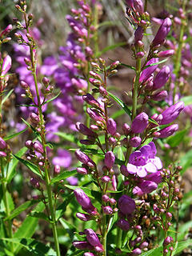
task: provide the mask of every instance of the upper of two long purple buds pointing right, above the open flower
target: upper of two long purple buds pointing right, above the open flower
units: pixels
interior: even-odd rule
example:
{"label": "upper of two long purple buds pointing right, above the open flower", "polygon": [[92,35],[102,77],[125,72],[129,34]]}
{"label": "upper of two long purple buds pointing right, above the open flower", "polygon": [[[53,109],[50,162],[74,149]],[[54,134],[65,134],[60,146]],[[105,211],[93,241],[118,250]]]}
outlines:
{"label": "upper of two long purple buds pointing right, above the open flower", "polygon": [[184,103],[178,102],[173,106],[170,106],[168,109],[162,112],[162,122],[161,125],[166,125],[170,122],[173,122],[174,119],[178,118],[180,112],[184,109]]}

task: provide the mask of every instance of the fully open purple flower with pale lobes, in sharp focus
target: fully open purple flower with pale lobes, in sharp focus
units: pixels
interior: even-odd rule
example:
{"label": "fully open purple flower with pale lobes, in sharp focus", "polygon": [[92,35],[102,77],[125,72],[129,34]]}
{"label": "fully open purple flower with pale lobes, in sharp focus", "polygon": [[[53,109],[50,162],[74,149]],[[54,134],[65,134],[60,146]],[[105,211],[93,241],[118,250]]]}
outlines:
{"label": "fully open purple flower with pale lobes, in sharp focus", "polygon": [[[130,154],[129,163],[123,169],[123,174],[137,174],[138,177],[146,177],[147,173],[156,173],[162,169],[160,158],[155,157],[157,154],[154,142],[142,146],[140,150]],[[122,171],[122,170],[121,170]]]}

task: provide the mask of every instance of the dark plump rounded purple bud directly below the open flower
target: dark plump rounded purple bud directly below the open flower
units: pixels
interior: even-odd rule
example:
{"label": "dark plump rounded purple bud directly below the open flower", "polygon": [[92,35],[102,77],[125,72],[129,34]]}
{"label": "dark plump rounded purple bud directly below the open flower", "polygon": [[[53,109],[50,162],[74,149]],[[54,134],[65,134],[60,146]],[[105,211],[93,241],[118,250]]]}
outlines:
{"label": "dark plump rounded purple bud directly below the open flower", "polygon": [[135,209],[134,199],[123,194],[122,197],[118,199],[118,208],[123,214],[132,214]]}

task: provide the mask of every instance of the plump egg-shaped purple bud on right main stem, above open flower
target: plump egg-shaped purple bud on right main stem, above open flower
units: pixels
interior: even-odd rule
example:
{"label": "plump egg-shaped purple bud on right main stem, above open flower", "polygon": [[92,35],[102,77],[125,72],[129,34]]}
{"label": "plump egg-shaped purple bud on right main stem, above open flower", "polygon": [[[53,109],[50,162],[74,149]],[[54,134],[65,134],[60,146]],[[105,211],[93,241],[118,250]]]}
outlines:
{"label": "plump egg-shaped purple bud on right main stem, above open flower", "polygon": [[146,130],[146,126],[148,125],[148,115],[144,112],[137,115],[134,118],[134,121],[131,125],[131,130],[134,134],[141,134],[144,130]]}

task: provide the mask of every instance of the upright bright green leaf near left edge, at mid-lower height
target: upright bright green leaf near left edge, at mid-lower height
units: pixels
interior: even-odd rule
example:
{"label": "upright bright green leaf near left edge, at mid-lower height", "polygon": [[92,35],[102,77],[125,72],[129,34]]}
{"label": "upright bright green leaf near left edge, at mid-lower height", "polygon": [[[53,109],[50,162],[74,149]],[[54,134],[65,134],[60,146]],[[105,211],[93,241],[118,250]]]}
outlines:
{"label": "upright bright green leaf near left edge, at mid-lower height", "polygon": [[[17,156],[18,157],[22,157],[23,154],[26,153],[26,146],[22,147],[21,150],[19,150],[17,152]],[[11,161],[7,164],[5,170],[7,170],[7,175],[6,175],[6,182],[10,183],[12,178],[14,178],[14,175],[16,174],[15,168],[18,165],[18,159],[17,158],[13,158],[11,159]]]}

